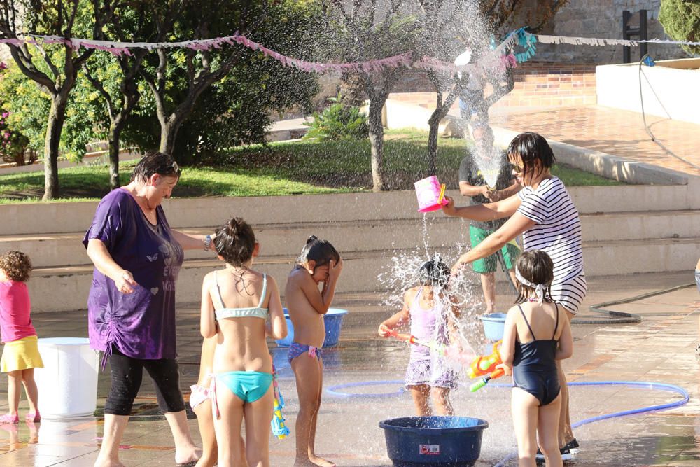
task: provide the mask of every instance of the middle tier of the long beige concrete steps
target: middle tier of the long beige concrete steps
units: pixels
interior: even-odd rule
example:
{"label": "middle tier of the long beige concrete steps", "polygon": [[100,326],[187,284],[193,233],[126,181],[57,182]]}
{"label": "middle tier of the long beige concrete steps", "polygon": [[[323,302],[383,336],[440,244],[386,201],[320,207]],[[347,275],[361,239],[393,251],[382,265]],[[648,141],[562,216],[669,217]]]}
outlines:
{"label": "middle tier of the long beige concrete steps", "polygon": [[[700,232],[700,211],[643,211],[582,214],[584,242],[640,239],[685,239]],[[265,256],[295,257],[309,235],[329,239],[342,254],[391,251],[426,246],[442,249],[468,244],[468,222],[440,214],[425,220],[337,221],[253,225]],[[213,227],[183,229],[196,234],[211,233]],[[90,265],[82,244],[83,233],[0,236],[0,251],[24,251],[34,267]],[[188,258],[211,259],[211,253],[188,251]],[[640,271],[634,271],[640,272]]]}

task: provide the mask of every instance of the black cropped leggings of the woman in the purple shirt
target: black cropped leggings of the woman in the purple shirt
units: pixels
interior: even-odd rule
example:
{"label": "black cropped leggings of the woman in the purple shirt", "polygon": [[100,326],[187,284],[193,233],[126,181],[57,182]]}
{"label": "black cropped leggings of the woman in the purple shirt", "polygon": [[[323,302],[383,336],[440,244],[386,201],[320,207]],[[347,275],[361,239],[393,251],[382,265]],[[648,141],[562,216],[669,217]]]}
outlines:
{"label": "black cropped leggings of the woman in the purple shirt", "polygon": [[139,360],[125,356],[117,349],[109,356],[112,386],[104,404],[104,413],[130,415],[134,399],[139,393],[144,368],[155,383],[155,396],[158,407],[165,412],[185,410],[185,401],[180,391],[180,372],[175,358],[160,360]]}

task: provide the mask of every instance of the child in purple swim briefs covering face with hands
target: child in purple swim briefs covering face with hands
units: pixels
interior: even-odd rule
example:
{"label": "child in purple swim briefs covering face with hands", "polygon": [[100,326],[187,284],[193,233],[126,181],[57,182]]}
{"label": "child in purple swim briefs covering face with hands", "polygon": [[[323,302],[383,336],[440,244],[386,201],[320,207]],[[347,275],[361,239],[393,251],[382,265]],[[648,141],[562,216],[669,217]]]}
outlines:
{"label": "child in purple swim briefs covering face with hands", "polygon": [[[311,235],[287,277],[285,301],[294,326],[294,342],[288,360],[294,371],[299,395],[294,465],[333,467],[314,452],[316,419],[323,391],[321,347],[325,340],[323,315],[328,313],[343,260],[326,240]],[[323,288],[318,290],[318,284]]]}

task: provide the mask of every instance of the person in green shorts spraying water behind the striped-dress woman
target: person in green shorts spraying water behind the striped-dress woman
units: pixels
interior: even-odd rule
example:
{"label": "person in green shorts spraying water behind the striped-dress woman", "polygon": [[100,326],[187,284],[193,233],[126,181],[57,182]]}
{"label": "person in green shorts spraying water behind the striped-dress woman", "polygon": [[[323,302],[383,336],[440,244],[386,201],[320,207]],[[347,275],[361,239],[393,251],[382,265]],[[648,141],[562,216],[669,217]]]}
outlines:
{"label": "person in green shorts spraying water behind the striped-dress woman", "polygon": [[[503,200],[517,193],[522,187],[514,180],[505,152],[493,147],[491,128],[488,125],[476,126],[472,131],[472,136],[474,137],[472,153],[466,155],[459,165],[460,193],[463,196],[471,197],[470,204],[484,204]],[[500,159],[498,164],[493,161],[493,158]],[[488,165],[499,167],[495,190],[489,189],[489,186],[486,185],[486,180],[475,160],[485,161]],[[498,230],[505,221],[507,221],[507,218],[497,219],[496,221],[471,221],[469,237],[472,248]],[[514,267],[519,254],[520,249],[517,244],[510,242],[505,244],[500,251],[493,253],[493,255],[472,263],[475,272],[478,272],[481,276],[486,313],[492,313],[496,303],[496,264],[498,263],[498,255],[503,258],[501,268],[507,271],[512,283],[517,284]]]}

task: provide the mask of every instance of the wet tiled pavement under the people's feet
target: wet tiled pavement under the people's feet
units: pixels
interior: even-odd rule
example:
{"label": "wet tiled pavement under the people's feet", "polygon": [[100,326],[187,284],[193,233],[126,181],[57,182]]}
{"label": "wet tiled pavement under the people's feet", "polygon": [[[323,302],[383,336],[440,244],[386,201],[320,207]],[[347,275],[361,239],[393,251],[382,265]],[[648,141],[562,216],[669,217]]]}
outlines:
{"label": "wet tiled pavement under the people's feet", "polygon": [[[584,307],[599,302],[631,298],[692,282],[692,273],[637,274],[635,276],[590,279]],[[500,291],[499,308],[507,309],[510,296]],[[381,398],[338,397],[324,393],[318,417],[316,452],[339,466],[389,466],[384,433],[378,427],[383,419],[413,414],[409,394],[400,393],[408,360],[404,344],[376,337],[379,322],[394,312],[381,305],[378,294],[337,296],[334,306],[349,309],[339,346],[323,351],[324,386],[361,382],[386,382],[337,389],[354,395],[394,394]],[[613,305],[620,312],[640,314],[643,321],[633,324],[575,324],[575,354],[564,363],[570,382],[631,381],[673,384],[685,389],[687,405],[661,412],[646,412],[584,424],[575,430],[581,452],[573,466],[700,466],[700,417],[698,393],[699,363],[694,346],[698,337],[700,296],[693,287],[655,295],[642,300]],[[597,319],[591,312],[582,318]],[[469,318],[467,318],[469,319]],[[84,311],[36,314],[33,317],[40,337],[85,337]],[[472,342],[482,339],[476,320]],[[179,307],[179,359],[183,373],[181,387],[188,388],[197,378],[201,338],[196,304]],[[294,423],[298,410],[293,374],[286,363],[286,349],[271,351],[279,370],[279,384],[287,406],[284,414],[292,435],[270,443],[272,466],[291,466],[294,449]],[[109,373],[100,373],[97,414],[102,412],[109,389]],[[500,382],[507,382],[502,379]],[[453,393],[456,414],[489,421],[484,431],[482,452],[477,466],[514,466],[504,461],[514,453],[515,439],[510,419],[510,391],[487,386],[478,393],[461,388]],[[7,379],[0,382],[0,410],[6,410]],[[40,388],[41,391],[45,388]],[[664,405],[681,400],[678,393],[661,386],[573,386],[571,416],[581,421],[603,414]],[[23,400],[20,414],[26,412]],[[127,466],[172,465],[174,447],[167,422],[155,402],[153,385],[144,385],[134,407],[120,459]],[[199,440],[195,419],[189,420]],[[41,424],[0,426],[0,466],[90,466],[99,449],[102,419],[43,421]],[[503,461],[503,462],[502,462]]]}

